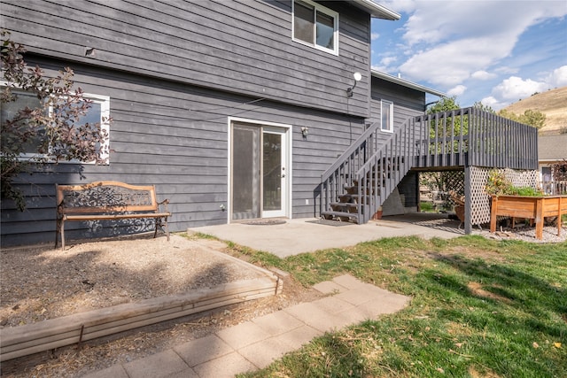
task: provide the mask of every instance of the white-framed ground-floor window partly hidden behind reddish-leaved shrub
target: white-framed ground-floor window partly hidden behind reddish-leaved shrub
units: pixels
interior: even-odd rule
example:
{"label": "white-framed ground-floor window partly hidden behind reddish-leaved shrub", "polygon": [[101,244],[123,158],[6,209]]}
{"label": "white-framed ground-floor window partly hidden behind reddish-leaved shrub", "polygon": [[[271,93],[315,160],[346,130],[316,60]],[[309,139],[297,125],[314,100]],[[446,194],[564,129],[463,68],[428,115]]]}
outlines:
{"label": "white-framed ground-floor window partly hidden behind reddish-leaved shrub", "polygon": [[[0,83],[6,85],[4,82]],[[24,90],[19,89],[12,89],[12,93],[18,96],[16,101],[12,101],[9,103],[2,104],[2,112],[1,112],[1,120],[4,123],[5,120],[12,120],[16,113],[20,109],[25,109],[26,107],[30,109],[37,109],[42,106],[40,100],[35,96],[33,93],[26,92]],[[95,124],[98,123],[100,127],[102,127],[106,131],[106,140],[104,141],[105,149],[108,150],[109,144],[109,123],[108,119],[110,118],[110,97],[108,96],[97,96],[97,95],[89,95],[83,94],[84,98],[89,99],[91,102],[89,110],[87,114],[82,116],[81,124],[89,123]],[[49,109],[49,112],[53,112],[53,109]],[[39,133],[41,134],[43,130],[40,130]],[[38,148],[38,141],[30,140],[24,145],[24,153],[21,155],[21,158],[33,158],[37,156],[37,148]],[[108,164],[108,153],[105,153],[101,158],[105,160],[106,164]],[[94,162],[83,162],[83,163],[94,163]]]}

